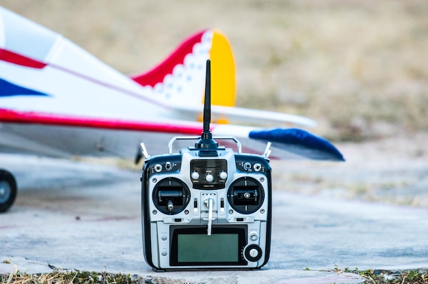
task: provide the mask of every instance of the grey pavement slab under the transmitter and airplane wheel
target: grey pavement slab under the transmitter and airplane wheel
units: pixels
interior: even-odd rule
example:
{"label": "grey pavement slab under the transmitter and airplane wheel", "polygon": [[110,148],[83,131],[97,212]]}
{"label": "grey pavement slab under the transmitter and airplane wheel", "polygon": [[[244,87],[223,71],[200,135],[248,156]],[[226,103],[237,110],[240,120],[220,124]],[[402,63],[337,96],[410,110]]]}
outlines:
{"label": "grey pavement slab under the transmitter and airplane wheel", "polygon": [[271,257],[262,270],[157,273],[142,253],[138,171],[34,156],[1,154],[0,161],[20,187],[14,207],[0,214],[1,273],[62,268],[154,283],[360,283],[331,270],[428,268],[427,209],[274,190]]}

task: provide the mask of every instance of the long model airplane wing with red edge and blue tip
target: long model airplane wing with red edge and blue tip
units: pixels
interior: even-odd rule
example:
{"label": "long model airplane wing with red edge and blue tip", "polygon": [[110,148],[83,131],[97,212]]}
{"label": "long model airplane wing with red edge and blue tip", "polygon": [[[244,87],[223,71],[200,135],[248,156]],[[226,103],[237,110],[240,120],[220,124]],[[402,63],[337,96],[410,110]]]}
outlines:
{"label": "long model airplane wing with red edge and blue tip", "polygon": [[[4,113],[3,113],[4,114]],[[53,117],[8,111],[3,116],[0,137],[3,152],[25,152],[46,156],[118,156],[133,157],[139,143],[147,145],[150,154],[168,152],[168,142],[178,134],[200,135],[200,122],[130,122],[81,117]],[[243,152],[263,154],[272,143],[274,159],[344,160],[329,141],[297,128],[260,128],[231,124],[211,124],[214,137],[235,137]],[[187,147],[191,144],[180,145]],[[235,147],[230,141],[219,145]]]}

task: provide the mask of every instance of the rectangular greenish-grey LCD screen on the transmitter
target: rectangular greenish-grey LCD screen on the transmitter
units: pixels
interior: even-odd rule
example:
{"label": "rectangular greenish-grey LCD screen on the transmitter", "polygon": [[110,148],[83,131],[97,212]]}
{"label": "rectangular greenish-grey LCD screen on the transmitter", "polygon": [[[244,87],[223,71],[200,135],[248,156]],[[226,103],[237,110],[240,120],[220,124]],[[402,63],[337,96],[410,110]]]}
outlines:
{"label": "rectangular greenish-grey LCD screen on the transmitter", "polygon": [[237,262],[239,234],[178,234],[178,262]]}

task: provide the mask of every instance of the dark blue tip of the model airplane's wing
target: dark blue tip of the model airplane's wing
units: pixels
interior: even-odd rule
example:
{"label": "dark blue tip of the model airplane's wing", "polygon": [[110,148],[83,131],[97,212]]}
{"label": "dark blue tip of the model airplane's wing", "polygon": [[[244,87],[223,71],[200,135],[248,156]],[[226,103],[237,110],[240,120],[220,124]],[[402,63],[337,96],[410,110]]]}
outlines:
{"label": "dark blue tip of the model airplane's wing", "polygon": [[302,129],[253,130],[249,137],[270,141],[276,147],[313,160],[345,160],[343,155],[327,139],[317,137]]}

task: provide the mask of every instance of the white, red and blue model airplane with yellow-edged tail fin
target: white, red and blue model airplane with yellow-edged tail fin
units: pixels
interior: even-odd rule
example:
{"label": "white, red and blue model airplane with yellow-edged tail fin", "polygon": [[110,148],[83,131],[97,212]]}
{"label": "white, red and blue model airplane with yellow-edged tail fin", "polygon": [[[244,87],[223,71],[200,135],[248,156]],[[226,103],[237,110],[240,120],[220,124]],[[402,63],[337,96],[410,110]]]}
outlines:
{"label": "white, red and blue model airplane with yellow-edged tail fin", "polygon": [[[343,160],[327,140],[282,128],[315,126],[312,119],[235,107],[235,63],[228,40],[217,30],[192,35],[152,70],[126,76],[62,35],[2,7],[0,151],[139,158],[144,141],[150,154],[165,153],[177,134],[202,131],[207,59],[212,62],[214,137],[236,137],[244,152],[257,154],[271,142],[271,158]],[[0,212],[10,208],[16,191],[12,173],[0,169]]]}

